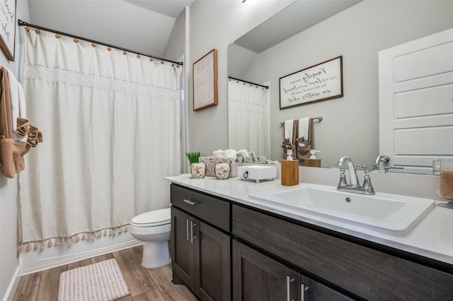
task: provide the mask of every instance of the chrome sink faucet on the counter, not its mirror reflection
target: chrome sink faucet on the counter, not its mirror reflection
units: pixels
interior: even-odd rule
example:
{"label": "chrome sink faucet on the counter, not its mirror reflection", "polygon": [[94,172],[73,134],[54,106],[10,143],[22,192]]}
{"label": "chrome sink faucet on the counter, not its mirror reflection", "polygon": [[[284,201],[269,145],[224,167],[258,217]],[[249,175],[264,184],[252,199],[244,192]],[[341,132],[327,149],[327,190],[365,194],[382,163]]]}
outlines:
{"label": "chrome sink faucet on the counter, not its mirror reflection", "polygon": [[[349,182],[346,181],[345,175],[345,165],[348,165],[349,168]],[[338,183],[337,189],[340,191],[350,191],[357,194],[376,194],[374,192],[373,185],[371,184],[371,178],[369,173],[371,171],[365,170],[365,179],[363,180],[363,185],[360,186],[359,179],[357,178],[357,171],[355,170],[355,165],[352,163],[352,159],[348,156],[343,156],[338,160],[337,167],[340,168],[340,182]]]}

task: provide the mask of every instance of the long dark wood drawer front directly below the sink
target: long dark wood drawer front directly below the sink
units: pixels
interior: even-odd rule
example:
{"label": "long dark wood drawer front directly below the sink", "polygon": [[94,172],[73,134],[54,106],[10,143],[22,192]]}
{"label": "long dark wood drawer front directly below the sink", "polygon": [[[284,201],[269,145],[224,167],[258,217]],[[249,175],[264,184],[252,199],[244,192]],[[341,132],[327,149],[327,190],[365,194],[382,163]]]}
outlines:
{"label": "long dark wood drawer front directly below the sink", "polygon": [[367,300],[451,300],[453,275],[233,205],[232,233]]}

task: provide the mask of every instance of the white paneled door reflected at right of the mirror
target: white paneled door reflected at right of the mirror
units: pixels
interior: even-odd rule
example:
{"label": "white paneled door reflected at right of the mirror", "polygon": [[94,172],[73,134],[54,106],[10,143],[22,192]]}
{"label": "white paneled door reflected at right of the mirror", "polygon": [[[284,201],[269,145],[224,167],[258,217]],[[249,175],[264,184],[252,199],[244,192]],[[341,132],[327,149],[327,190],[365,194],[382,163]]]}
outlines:
{"label": "white paneled door reflected at right of the mirror", "polygon": [[379,153],[404,172],[453,159],[453,29],[379,52]]}

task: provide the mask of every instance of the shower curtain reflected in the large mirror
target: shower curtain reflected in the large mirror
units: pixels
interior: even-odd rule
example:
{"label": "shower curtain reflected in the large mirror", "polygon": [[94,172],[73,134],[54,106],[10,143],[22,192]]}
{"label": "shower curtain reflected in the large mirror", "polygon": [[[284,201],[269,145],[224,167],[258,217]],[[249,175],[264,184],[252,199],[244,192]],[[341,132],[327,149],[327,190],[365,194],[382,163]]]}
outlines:
{"label": "shower curtain reflected in the large mirror", "polygon": [[269,90],[241,81],[228,81],[228,147],[255,151],[270,158]]}

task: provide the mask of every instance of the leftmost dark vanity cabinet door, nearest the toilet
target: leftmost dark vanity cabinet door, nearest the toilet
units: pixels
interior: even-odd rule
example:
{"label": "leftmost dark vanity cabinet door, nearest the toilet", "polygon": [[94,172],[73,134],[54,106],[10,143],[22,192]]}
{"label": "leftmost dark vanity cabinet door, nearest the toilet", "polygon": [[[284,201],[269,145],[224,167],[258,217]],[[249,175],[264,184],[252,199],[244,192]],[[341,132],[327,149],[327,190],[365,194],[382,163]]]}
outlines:
{"label": "leftmost dark vanity cabinet door, nearest the toilet", "polygon": [[193,289],[195,283],[193,262],[193,218],[171,207],[171,262],[173,282],[185,283]]}

